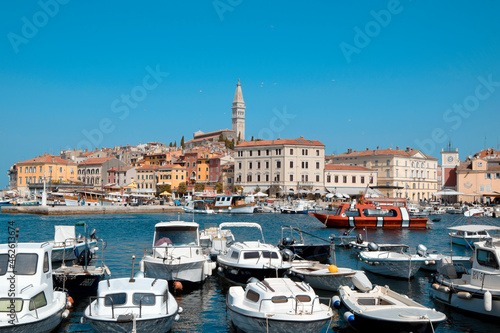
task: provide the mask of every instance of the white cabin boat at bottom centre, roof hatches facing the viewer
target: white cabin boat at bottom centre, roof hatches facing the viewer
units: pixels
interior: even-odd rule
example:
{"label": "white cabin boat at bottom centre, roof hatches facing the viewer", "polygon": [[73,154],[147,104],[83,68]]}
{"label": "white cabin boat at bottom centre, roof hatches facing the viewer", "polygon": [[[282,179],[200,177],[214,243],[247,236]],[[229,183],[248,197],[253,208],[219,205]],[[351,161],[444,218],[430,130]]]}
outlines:
{"label": "white cabin boat at bottom centre, roof hatches facing the viewer", "polygon": [[266,278],[229,288],[231,321],[246,333],[321,332],[333,317],[313,288],[288,278]]}

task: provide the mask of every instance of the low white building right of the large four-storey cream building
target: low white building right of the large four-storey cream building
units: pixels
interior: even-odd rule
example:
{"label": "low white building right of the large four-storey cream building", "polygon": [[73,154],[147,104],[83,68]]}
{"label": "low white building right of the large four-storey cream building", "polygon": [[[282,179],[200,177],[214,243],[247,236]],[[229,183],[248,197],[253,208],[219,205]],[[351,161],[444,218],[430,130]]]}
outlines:
{"label": "low white building right of the large four-storey cream building", "polygon": [[[325,187],[330,193],[349,196],[365,193],[367,186],[376,187],[377,171],[354,165],[325,164]],[[367,195],[382,196],[378,190],[368,188]]]}

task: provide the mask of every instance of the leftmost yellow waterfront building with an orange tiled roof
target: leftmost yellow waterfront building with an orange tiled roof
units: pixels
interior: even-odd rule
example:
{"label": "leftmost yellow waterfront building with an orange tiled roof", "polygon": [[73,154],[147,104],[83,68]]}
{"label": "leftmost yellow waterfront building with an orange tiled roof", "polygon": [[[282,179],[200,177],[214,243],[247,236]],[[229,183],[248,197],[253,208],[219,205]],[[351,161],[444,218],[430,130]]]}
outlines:
{"label": "leftmost yellow waterfront building with an orange tiled roof", "polygon": [[28,193],[30,184],[68,182],[77,180],[76,163],[58,156],[47,155],[17,163],[17,189],[21,195]]}

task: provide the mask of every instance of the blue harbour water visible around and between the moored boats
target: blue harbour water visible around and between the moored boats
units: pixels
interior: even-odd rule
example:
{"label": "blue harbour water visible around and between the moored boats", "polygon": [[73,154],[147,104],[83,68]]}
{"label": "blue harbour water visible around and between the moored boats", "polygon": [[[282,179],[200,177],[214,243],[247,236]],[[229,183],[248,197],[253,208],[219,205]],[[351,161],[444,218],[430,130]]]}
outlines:
{"label": "blue harbour water visible around and between the moored boats", "polygon": [[[435,222],[430,230],[357,230],[365,239],[378,243],[404,243],[415,249],[424,244],[429,250],[450,253],[450,242],[446,227],[467,224],[469,221],[459,215],[441,215],[440,222]],[[107,241],[105,250],[106,264],[111,270],[112,278],[128,277],[131,273],[132,255],[136,256],[136,266],[151,247],[154,225],[160,221],[173,220],[193,221],[188,214],[141,214],[141,215],[80,215],[80,216],[36,216],[0,214],[0,239],[7,241],[9,221],[15,221],[20,228],[21,242],[44,242],[54,238],[54,225],[74,225],[85,221],[90,228],[97,229],[97,236]],[[308,215],[287,214],[254,214],[254,215],[213,215],[194,216],[200,229],[206,223],[221,222],[257,222],[262,226],[267,243],[277,244],[281,238],[282,226],[294,226],[316,236],[327,239],[332,233],[340,234],[343,229],[327,229],[314,217]],[[499,219],[488,217],[473,218],[474,224],[500,225]],[[83,227],[76,227],[77,233],[83,234]],[[255,231],[233,229],[237,240],[253,240],[259,235]],[[306,239],[307,240],[307,239]],[[312,241],[312,240],[311,240]],[[454,254],[471,255],[472,252],[458,246],[453,247]],[[339,267],[359,268],[359,263],[351,250],[337,248],[336,261]],[[448,320],[442,323],[436,332],[498,332],[500,322],[478,319],[474,314],[460,313],[453,309],[434,303],[429,296],[432,276],[419,272],[410,282],[396,280],[367,273],[374,284],[388,285],[391,289],[407,294],[418,302],[443,311]],[[225,286],[216,276],[205,281],[199,288],[175,295],[180,306],[184,308],[181,319],[173,326],[172,332],[236,332],[231,325],[225,304]],[[321,296],[332,296],[332,293],[321,292]],[[58,332],[92,332],[90,325],[80,324],[80,318],[88,300],[78,300],[70,316],[61,325]],[[342,319],[337,318],[330,327],[333,332],[350,332]]]}

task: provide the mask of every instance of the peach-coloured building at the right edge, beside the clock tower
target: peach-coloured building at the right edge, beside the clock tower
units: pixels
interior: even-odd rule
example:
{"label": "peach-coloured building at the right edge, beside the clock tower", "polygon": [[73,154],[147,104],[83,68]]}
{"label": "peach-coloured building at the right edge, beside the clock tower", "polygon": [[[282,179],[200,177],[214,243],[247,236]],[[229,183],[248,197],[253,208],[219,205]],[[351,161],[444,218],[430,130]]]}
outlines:
{"label": "peach-coloured building at the right edge, beside the clock tower", "polygon": [[483,203],[500,197],[500,158],[474,158],[456,168],[458,200]]}

